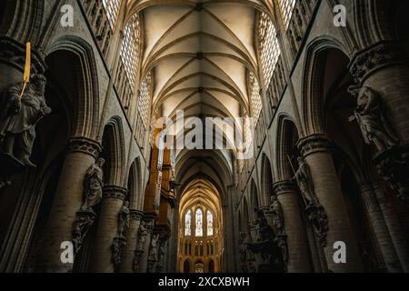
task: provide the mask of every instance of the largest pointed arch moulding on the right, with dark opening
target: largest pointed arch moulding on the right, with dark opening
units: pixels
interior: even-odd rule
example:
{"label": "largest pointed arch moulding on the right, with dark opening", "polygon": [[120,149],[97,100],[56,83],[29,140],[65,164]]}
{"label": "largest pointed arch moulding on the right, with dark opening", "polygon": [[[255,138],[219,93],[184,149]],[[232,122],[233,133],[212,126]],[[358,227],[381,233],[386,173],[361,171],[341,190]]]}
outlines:
{"label": "largest pointed arch moulding on the right, with dark opening", "polygon": [[[336,68],[340,64],[337,64],[336,58],[329,54],[338,52],[342,55],[347,55],[348,50],[334,38],[323,36],[314,39],[314,41],[308,45],[306,51],[301,112],[302,121],[305,126],[305,135],[308,136],[323,134],[325,129],[322,117],[324,112],[322,104],[325,95],[323,95],[324,72],[329,68],[326,60],[328,58],[333,59],[334,64],[331,64],[331,67]],[[344,64],[341,66],[344,66]]]}

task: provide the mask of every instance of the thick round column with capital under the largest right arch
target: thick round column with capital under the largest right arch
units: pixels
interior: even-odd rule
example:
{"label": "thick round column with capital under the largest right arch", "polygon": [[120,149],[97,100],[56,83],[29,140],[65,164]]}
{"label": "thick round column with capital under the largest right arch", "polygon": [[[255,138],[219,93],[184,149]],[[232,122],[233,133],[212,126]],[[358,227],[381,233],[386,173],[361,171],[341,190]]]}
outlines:
{"label": "thick round column with capital under the largest right arch", "polygon": [[[297,146],[310,167],[314,194],[327,216],[324,254],[328,269],[333,272],[362,272],[362,261],[346,212],[329,138],[326,135],[310,135],[301,139]],[[334,243],[338,241],[346,245],[345,264],[334,262]]]}

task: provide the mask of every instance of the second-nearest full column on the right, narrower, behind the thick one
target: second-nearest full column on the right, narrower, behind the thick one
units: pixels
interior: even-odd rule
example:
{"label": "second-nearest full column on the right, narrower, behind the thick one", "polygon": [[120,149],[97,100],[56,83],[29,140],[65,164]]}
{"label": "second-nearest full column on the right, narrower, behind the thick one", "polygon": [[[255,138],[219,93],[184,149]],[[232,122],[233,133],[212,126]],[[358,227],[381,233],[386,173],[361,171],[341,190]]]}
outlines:
{"label": "second-nearest full column on the right, narrower, behind the thick one", "polygon": [[274,184],[274,193],[278,198],[284,214],[284,228],[287,236],[287,269],[289,273],[311,272],[308,254],[307,237],[297,193],[291,181],[281,181]]}

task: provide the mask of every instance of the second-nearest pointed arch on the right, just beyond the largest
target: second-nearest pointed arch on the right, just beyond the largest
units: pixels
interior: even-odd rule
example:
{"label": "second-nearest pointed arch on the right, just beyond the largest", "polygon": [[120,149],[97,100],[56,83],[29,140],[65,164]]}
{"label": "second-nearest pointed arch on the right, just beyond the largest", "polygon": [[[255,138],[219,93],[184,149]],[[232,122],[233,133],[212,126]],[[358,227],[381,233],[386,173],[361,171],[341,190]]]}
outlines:
{"label": "second-nearest pointed arch on the right, just beyond the largest", "polygon": [[293,118],[288,115],[280,115],[278,119],[277,133],[277,177],[279,181],[289,180],[294,176],[294,165],[290,161],[294,161],[293,157],[298,152],[296,143],[299,139],[298,130]]}

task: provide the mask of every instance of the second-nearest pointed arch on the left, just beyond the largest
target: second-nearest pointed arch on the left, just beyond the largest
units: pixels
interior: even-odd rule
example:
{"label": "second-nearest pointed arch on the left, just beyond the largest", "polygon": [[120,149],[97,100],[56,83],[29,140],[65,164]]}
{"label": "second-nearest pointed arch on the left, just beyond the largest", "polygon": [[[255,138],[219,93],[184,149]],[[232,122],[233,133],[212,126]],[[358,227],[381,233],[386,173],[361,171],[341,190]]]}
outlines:
{"label": "second-nearest pointed arch on the left, just beyond the largest", "polygon": [[122,119],[112,117],[105,125],[103,153],[105,158],[105,185],[125,185],[125,137]]}

